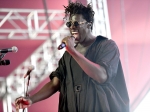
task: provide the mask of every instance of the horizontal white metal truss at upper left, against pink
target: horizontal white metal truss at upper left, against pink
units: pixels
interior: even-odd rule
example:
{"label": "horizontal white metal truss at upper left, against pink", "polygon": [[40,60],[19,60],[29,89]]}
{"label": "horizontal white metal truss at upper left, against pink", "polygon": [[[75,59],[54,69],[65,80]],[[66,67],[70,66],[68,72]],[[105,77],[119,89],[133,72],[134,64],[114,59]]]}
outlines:
{"label": "horizontal white metal truss at upper left, against pink", "polygon": [[[47,28],[45,13],[48,13],[51,30]],[[49,33],[58,31],[63,17],[63,10],[0,9],[0,39],[47,39]]]}

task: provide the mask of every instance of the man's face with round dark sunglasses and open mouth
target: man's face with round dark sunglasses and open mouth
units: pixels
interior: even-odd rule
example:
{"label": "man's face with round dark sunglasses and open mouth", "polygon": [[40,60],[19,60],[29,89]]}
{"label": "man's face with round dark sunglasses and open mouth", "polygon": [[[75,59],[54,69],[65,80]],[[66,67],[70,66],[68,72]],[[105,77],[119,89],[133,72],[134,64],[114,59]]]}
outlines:
{"label": "man's face with round dark sunglasses and open mouth", "polygon": [[83,43],[89,32],[87,21],[80,14],[72,15],[69,19],[68,27],[72,36],[75,37],[75,43]]}

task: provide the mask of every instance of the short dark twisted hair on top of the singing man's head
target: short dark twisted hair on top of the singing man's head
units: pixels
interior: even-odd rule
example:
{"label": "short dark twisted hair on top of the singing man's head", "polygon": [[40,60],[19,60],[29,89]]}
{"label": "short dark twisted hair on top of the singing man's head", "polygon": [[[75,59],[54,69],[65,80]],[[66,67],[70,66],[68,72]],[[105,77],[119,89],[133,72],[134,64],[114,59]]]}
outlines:
{"label": "short dark twisted hair on top of the singing man's head", "polygon": [[69,16],[74,15],[74,14],[81,14],[83,16],[83,18],[87,22],[90,22],[93,26],[95,12],[93,11],[90,3],[87,6],[84,6],[80,2],[75,2],[75,3],[69,2],[69,5],[64,6],[64,8],[65,8],[66,16],[68,14],[69,14]]}

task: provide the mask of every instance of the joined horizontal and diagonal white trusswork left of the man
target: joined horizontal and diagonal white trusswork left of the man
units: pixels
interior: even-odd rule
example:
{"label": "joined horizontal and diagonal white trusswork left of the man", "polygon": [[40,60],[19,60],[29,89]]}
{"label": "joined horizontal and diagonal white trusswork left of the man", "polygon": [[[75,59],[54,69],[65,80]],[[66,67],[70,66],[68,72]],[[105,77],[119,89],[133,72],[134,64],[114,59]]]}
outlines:
{"label": "joined horizontal and diagonal white trusswork left of the man", "polygon": [[[64,52],[56,48],[62,38],[69,34],[63,21],[64,12],[61,10],[47,12],[48,21],[44,10],[0,9],[0,39],[45,39],[45,42],[6,79],[1,78],[0,98],[3,99],[4,112],[15,112],[15,98],[25,95],[27,79],[24,79],[24,75],[28,67],[31,65],[35,67],[31,73],[32,83],[28,89],[31,91],[56,69],[57,61]],[[48,22],[52,26],[51,30],[48,29]],[[10,29],[11,25],[13,27]]]}

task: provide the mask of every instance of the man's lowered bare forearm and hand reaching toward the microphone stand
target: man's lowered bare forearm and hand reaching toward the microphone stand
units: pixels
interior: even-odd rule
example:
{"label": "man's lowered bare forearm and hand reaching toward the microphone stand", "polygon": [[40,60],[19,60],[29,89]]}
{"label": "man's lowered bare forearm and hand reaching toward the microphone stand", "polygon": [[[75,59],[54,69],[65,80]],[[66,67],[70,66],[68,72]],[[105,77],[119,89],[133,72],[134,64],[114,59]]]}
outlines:
{"label": "man's lowered bare forearm and hand reaching toward the microphone stand", "polygon": [[54,77],[50,82],[45,84],[36,94],[34,94],[31,97],[19,97],[15,100],[16,110],[17,112],[19,109],[27,108],[31,104],[36,103],[38,101],[44,100],[51,95],[53,95],[55,92],[59,89],[59,79],[57,77]]}

